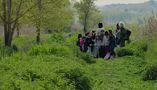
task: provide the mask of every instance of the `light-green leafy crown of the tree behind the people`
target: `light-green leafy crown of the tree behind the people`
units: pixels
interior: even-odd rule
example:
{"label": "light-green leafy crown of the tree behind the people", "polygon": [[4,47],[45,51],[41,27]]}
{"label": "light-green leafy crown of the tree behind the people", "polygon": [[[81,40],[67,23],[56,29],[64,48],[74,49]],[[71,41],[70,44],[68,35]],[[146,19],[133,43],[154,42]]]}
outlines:
{"label": "light-green leafy crown of the tree behind the people", "polygon": [[97,23],[102,21],[101,13],[94,2],[95,0],[80,0],[75,4],[79,21],[84,26],[84,32],[91,31]]}

